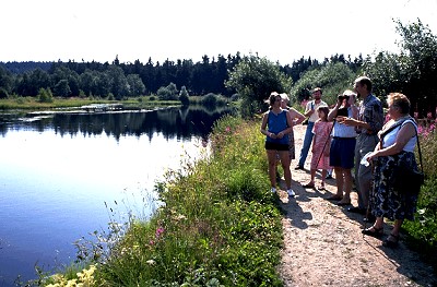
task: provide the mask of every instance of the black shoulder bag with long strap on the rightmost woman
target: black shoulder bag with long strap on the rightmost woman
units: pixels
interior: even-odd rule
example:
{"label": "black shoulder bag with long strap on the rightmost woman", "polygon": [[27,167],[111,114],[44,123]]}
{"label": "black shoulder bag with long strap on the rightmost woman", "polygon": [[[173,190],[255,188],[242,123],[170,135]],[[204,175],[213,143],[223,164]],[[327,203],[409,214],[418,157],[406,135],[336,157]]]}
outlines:
{"label": "black shoulder bag with long strap on the rightmost woman", "polygon": [[[399,124],[395,124],[395,127],[390,128],[386,133],[401,125],[403,121],[400,122]],[[393,190],[405,195],[417,195],[418,192],[421,191],[421,187],[425,182],[425,174],[423,172],[421,143],[418,141],[418,134],[416,129],[415,132],[417,137],[417,150],[421,163],[421,170],[416,170],[413,169],[411,166],[398,163],[398,165],[393,168],[393,172],[391,175],[391,180],[390,180]],[[381,141],[382,137],[383,136],[381,136]]]}

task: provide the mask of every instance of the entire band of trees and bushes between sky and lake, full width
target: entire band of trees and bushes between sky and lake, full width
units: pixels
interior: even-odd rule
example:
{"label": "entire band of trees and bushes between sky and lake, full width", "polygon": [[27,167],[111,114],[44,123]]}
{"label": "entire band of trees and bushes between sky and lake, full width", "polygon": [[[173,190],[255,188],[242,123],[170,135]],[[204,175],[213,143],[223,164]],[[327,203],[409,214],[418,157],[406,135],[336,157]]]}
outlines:
{"label": "entire band of trees and bushes between sky and lake, full width", "polygon": [[[233,98],[237,95],[243,113],[250,116],[265,108],[263,99],[271,91],[290,93],[292,104],[310,96],[310,88],[323,88],[327,103],[352,88],[354,79],[371,79],[373,93],[380,99],[391,92],[404,93],[412,110],[418,117],[437,112],[437,37],[428,26],[417,23],[403,25],[397,31],[400,53],[380,51],[351,59],[334,55],[322,62],[311,58],[294,61],[291,65],[273,63],[258,55],[224,57],[212,60],[203,56],[192,60],[166,60],[146,63],[140,60],[120,62],[118,57],[109,63],[99,62],[0,62],[0,98],[9,97],[87,97],[127,99],[138,96],[157,96],[164,100],[181,100],[181,94],[206,96],[210,94]],[[180,91],[180,93],[179,93]]]}

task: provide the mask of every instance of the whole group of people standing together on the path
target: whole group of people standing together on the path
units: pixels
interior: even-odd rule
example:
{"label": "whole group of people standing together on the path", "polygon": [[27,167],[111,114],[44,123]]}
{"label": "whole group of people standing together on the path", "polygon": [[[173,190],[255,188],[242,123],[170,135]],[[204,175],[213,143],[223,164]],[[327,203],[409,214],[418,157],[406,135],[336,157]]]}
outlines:
{"label": "whole group of people standing together on the path", "polygon": [[[390,120],[385,123],[382,103],[371,94],[371,81],[367,76],[357,77],[353,91],[346,89],[339,95],[331,109],[321,100],[321,88],[312,89],[311,94],[314,99],[307,103],[304,113],[288,107],[286,94],[270,94],[270,109],[263,115],[261,133],[265,135],[271,192],[276,192],[276,166],[281,163],[287,194],[295,196],[291,172],[291,162],[295,159],[293,125],[307,119],[295,167],[304,169],[312,146],[310,181],[303,187],[316,189],[316,172],[321,169],[317,189],[323,190],[327,174],[333,169],[336,192],[328,200],[336,201],[338,205],[352,205],[351,192],[355,182],[357,205],[347,211],[365,215],[364,220],[373,223],[362,232],[380,237],[383,218],[390,218],[394,226],[383,244],[397,246],[400,227],[404,219],[413,219],[417,202],[417,194],[405,195],[388,184],[394,164],[406,164],[417,169],[414,157],[417,124],[409,116],[410,100],[400,93],[389,94]],[[356,105],[358,99],[359,106]]]}

